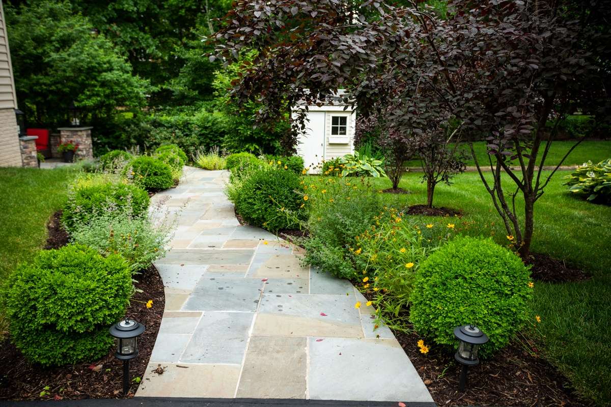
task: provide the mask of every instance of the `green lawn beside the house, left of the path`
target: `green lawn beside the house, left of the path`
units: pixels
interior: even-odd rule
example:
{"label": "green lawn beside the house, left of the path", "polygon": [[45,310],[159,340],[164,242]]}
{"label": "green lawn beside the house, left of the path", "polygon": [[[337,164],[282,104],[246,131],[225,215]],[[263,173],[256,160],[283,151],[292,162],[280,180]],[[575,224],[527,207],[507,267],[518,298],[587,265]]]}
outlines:
{"label": "green lawn beside the house, left of the path", "polygon": [[[67,200],[75,170],[0,168],[0,281],[46,241],[46,222]],[[4,325],[0,310],[0,337]]]}

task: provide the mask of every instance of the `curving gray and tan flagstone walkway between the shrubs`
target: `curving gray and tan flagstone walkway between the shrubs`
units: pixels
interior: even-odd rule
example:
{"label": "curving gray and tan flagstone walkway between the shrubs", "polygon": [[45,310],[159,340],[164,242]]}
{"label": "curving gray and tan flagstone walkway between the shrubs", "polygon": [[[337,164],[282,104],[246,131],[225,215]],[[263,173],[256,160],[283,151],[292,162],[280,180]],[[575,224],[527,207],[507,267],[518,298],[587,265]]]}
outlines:
{"label": "curving gray and tan flagstone walkway between the shrubs", "polygon": [[[166,309],[137,396],[433,400],[393,334],[345,280],[299,264],[299,248],[240,226],[226,171],[186,167],[155,195],[183,207],[156,262]],[[154,373],[159,365],[164,373]]]}

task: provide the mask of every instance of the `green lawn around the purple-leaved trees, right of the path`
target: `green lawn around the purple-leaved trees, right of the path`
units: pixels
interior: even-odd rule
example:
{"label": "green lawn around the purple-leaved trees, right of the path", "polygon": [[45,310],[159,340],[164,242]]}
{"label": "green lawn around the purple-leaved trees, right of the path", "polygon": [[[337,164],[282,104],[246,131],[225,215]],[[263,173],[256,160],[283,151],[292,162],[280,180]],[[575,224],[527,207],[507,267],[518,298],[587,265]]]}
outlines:
{"label": "green lawn around the purple-leaved trees, right of the path", "polygon": [[[550,171],[546,171],[549,173]],[[544,355],[573,382],[584,397],[598,405],[611,403],[611,207],[591,204],[566,192],[559,171],[535,206],[532,250],[571,262],[591,273],[583,283],[535,284],[534,315],[541,316],[540,337]],[[384,194],[388,204],[409,206],[426,203],[422,174],[409,173],[400,187],[407,195]],[[374,179],[379,189],[389,179]],[[511,185],[511,184],[508,184]],[[453,185],[440,184],[435,206],[461,209],[464,221],[475,221],[470,234],[489,236],[499,243],[506,235],[488,193],[477,173],[456,176]],[[530,329],[530,328],[525,328]]]}

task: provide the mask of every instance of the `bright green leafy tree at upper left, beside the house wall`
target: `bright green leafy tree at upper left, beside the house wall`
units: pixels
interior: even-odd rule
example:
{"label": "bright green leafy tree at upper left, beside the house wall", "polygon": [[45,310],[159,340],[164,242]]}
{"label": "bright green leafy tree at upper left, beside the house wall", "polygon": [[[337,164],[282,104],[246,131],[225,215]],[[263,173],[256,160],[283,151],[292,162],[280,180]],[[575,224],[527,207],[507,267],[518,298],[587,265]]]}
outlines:
{"label": "bright green leafy tree at upper left, beside the house wall", "polygon": [[5,13],[17,99],[30,123],[67,124],[72,101],[85,109],[82,121],[94,112],[103,121],[118,106],[144,105],[148,81],[133,75],[108,38],[92,34],[90,21],[70,2],[7,4]]}

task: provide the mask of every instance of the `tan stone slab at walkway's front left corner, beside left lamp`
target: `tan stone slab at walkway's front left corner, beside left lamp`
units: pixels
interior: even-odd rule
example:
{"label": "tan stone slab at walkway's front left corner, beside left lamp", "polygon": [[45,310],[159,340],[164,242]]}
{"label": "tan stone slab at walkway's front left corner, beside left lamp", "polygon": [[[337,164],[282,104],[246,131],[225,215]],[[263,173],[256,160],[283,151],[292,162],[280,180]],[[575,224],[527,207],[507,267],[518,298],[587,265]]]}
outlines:
{"label": "tan stone slab at walkway's front left corner, beside left lamp", "polygon": [[[181,367],[178,367],[181,366]],[[148,364],[136,397],[232,398],[240,377],[240,365],[161,364],[163,375]]]}

